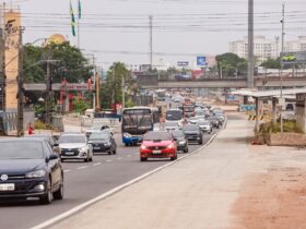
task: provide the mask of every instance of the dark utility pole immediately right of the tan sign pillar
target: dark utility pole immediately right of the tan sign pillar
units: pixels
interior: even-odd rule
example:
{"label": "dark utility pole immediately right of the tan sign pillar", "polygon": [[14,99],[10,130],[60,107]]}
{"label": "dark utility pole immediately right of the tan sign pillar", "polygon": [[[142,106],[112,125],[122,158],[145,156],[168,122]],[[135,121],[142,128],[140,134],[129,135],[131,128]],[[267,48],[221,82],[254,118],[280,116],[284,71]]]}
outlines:
{"label": "dark utility pole immediately right of the tan sign pillar", "polygon": [[17,136],[24,135],[24,88],[23,88],[23,27],[19,28],[19,75],[17,75]]}

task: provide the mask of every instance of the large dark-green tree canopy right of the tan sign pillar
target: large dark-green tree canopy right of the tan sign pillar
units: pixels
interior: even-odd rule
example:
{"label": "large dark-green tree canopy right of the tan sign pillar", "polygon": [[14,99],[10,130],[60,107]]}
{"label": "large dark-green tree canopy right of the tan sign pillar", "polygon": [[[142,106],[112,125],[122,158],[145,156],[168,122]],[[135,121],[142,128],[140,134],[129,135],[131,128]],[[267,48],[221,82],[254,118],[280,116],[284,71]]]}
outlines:
{"label": "large dark-green tree canopy right of the tan sign pillar", "polygon": [[27,83],[43,83],[47,74],[47,60],[50,64],[54,83],[67,80],[69,83],[86,82],[92,75],[93,67],[81,50],[69,43],[50,44],[46,47],[24,46],[24,80]]}

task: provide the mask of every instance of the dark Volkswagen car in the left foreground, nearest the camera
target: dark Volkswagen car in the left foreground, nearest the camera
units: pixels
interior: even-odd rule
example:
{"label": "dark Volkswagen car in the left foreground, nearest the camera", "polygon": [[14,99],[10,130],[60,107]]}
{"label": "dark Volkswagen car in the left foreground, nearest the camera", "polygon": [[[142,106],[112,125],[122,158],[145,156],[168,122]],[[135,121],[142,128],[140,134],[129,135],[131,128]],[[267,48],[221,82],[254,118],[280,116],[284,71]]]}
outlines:
{"label": "dark Volkswagen car in the left foreground, nearest the camera", "polygon": [[62,167],[47,140],[0,140],[0,200],[63,198]]}

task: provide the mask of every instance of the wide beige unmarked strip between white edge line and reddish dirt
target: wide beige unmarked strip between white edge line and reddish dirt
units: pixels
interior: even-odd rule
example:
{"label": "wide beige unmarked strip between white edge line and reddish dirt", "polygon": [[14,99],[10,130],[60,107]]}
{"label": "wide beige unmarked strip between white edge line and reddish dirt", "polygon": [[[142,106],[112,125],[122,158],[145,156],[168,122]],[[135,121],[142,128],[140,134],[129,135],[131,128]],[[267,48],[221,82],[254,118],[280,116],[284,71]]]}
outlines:
{"label": "wide beige unmarked strip between white edge line and reddish dirt", "polygon": [[[55,229],[226,228],[246,172],[254,124],[231,120],[199,154],[101,201]],[[150,161],[149,161],[150,162]],[[67,196],[69,197],[69,196]]]}

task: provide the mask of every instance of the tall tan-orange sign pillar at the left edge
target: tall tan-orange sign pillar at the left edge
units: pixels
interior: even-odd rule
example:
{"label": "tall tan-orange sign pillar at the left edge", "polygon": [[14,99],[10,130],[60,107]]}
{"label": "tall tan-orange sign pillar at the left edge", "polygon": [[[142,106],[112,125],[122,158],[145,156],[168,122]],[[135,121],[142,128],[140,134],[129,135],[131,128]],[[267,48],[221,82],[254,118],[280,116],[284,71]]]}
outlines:
{"label": "tall tan-orange sign pillar at the left edge", "polygon": [[17,109],[17,75],[19,75],[19,47],[20,47],[20,12],[4,12],[5,36],[5,110]]}

